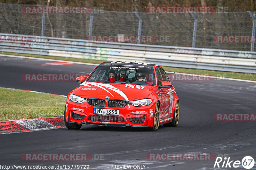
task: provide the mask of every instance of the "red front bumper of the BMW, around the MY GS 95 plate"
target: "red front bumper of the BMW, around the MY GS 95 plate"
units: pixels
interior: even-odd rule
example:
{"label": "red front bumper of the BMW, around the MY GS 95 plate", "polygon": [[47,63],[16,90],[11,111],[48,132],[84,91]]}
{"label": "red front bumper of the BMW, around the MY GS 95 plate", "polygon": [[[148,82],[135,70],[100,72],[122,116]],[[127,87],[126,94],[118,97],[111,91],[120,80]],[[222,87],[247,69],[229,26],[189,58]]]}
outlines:
{"label": "red front bumper of the BMW, around the MY GS 95 plate", "polygon": [[[65,121],[77,124],[90,124],[99,126],[150,126],[153,125],[155,102],[148,106],[135,107],[127,104],[122,108],[95,107],[89,103],[74,103],[67,101],[65,108]],[[93,109],[118,109],[119,115],[93,114]]]}

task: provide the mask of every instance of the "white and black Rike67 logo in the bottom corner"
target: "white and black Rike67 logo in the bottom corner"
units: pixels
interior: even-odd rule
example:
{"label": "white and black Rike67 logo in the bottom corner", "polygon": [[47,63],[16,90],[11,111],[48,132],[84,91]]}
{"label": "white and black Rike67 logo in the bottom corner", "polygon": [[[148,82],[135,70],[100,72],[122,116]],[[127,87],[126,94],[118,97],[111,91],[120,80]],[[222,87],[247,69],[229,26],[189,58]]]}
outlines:
{"label": "white and black Rike67 logo in the bottom corner", "polygon": [[214,168],[215,167],[222,167],[222,168],[242,168],[244,167],[245,169],[251,169],[254,166],[254,159],[251,156],[245,156],[242,161],[240,160],[230,160],[230,157],[225,157],[224,159],[222,157],[217,157],[214,163]]}

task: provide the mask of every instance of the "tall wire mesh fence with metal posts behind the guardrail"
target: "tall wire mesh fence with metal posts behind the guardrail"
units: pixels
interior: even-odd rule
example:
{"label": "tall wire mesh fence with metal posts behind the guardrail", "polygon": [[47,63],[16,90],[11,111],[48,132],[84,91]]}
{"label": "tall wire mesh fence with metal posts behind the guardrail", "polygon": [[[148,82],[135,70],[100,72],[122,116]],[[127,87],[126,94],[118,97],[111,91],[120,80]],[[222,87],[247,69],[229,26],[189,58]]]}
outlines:
{"label": "tall wire mesh fence with metal posts behind the guardrail", "polygon": [[22,13],[24,6],[28,5],[0,4],[0,33],[85,40],[90,35],[151,35],[157,40],[139,43],[256,51],[254,42],[214,41],[217,35],[255,35],[255,13],[250,11],[204,14],[94,11],[45,15]]}

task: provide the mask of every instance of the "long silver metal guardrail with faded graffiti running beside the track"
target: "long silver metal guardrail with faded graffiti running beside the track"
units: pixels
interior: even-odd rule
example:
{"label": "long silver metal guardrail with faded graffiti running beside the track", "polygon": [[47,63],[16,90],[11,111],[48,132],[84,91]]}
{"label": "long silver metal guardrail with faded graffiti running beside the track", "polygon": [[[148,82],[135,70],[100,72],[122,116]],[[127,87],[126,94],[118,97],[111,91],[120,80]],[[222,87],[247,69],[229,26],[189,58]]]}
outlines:
{"label": "long silver metal guardrail with faded graffiti running beside the track", "polygon": [[256,74],[256,52],[246,51],[92,42],[2,33],[0,51],[106,61],[152,62],[170,67]]}

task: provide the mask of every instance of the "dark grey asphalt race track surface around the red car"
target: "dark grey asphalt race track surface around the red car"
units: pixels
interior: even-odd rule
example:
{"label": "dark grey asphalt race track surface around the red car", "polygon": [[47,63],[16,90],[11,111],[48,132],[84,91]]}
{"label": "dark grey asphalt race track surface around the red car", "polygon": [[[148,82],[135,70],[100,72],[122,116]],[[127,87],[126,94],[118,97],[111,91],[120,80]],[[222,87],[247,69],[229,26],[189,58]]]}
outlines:
{"label": "dark grey asphalt race track surface around the red car", "polygon": [[[23,74],[86,74],[95,67],[82,64],[40,65],[46,62],[53,61],[0,56],[0,87],[67,95],[79,85],[77,82],[24,81],[21,77]],[[147,128],[83,125],[80,130],[59,128],[5,133],[0,135],[1,165],[73,164],[89,165],[90,169],[114,169],[113,165],[146,165],[145,169],[237,169],[213,168],[216,158],[150,160],[146,157],[149,153],[214,153],[216,157],[226,154],[230,160],[240,161],[244,156],[252,156],[256,161],[256,121],[213,119],[217,113],[255,114],[256,83],[211,80],[172,81],[172,84],[180,98],[177,127],[160,126],[158,131],[153,132]],[[22,159],[25,153],[89,153],[92,159],[30,161]],[[97,159],[99,154],[103,156],[100,160]]]}

